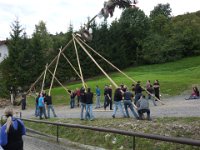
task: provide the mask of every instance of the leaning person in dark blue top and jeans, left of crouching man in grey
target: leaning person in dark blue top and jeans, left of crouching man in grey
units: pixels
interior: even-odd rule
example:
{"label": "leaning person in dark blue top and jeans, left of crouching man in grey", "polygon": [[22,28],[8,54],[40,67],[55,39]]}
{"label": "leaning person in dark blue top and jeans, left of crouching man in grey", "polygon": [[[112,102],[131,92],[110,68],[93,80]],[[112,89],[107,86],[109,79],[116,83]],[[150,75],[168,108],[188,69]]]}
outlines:
{"label": "leaning person in dark blue top and jeans, left of crouching man in grey", "polygon": [[130,117],[128,112],[128,107],[129,107],[135,118],[138,119],[139,117],[133,108],[132,101],[133,101],[133,93],[131,93],[130,91],[128,91],[128,89],[126,89],[124,92],[124,108],[126,111],[126,116],[128,118]]}

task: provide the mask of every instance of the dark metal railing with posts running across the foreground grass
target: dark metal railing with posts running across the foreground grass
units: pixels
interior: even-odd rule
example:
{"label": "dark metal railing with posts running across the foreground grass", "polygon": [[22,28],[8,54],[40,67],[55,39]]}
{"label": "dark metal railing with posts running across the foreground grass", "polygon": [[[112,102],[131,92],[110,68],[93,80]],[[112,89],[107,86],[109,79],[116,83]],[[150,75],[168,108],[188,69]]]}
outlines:
{"label": "dark metal railing with posts running across the foreground grass", "polygon": [[59,127],[69,127],[69,128],[88,129],[92,131],[107,132],[107,133],[130,136],[133,138],[133,150],[135,150],[136,148],[136,144],[135,144],[136,137],[152,139],[152,140],[160,140],[160,141],[171,142],[171,143],[179,143],[179,144],[185,144],[185,145],[191,145],[191,146],[200,146],[200,140],[194,140],[194,139],[189,139],[189,138],[167,137],[167,136],[162,136],[162,135],[130,132],[130,131],[124,131],[124,130],[119,130],[119,129],[107,129],[107,128],[92,127],[92,126],[85,126],[85,125],[78,125],[78,124],[54,123],[54,122],[32,120],[32,119],[22,119],[22,120],[56,126],[57,142],[59,142]]}

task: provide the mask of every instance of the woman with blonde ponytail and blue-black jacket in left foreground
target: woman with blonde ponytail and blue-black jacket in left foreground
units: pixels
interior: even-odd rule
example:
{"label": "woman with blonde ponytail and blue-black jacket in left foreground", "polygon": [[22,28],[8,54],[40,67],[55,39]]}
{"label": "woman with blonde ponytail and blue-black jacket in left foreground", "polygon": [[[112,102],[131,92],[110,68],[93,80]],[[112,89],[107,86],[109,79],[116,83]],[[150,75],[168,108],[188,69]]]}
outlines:
{"label": "woman with blonde ponytail and blue-black jacket in left foreground", "polygon": [[1,127],[0,145],[4,150],[23,150],[22,136],[26,134],[24,123],[13,117],[13,109],[6,107],[6,123]]}

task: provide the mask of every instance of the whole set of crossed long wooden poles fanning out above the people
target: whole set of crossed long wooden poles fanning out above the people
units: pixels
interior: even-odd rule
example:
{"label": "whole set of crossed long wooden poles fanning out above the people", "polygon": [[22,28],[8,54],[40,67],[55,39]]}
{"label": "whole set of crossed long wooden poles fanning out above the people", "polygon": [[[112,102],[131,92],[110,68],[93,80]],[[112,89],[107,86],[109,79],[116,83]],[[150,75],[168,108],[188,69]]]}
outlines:
{"label": "whole set of crossed long wooden poles fanning out above the people", "polygon": [[[63,53],[64,50],[69,46],[69,44],[73,41],[74,43],[74,48],[75,48],[75,53],[76,53],[76,59],[77,59],[77,63],[78,63],[78,67],[79,67],[79,73],[78,71],[75,69],[75,67],[72,65],[72,63],[69,61],[69,59],[65,56],[65,54]],[[75,34],[72,34],[72,40],[70,40],[68,42],[68,44],[63,48],[63,49],[59,49],[59,53],[58,55],[51,61],[51,63],[48,65],[46,65],[45,70],[42,72],[42,74],[37,78],[37,80],[31,85],[31,88],[27,91],[27,94],[31,91],[31,89],[37,84],[37,82],[40,80],[40,78],[43,76],[43,82],[42,82],[42,89],[41,91],[43,91],[44,89],[44,80],[46,77],[46,73],[47,71],[50,72],[50,74],[52,75],[52,80],[51,80],[51,86],[49,88],[49,95],[51,94],[51,90],[52,90],[52,86],[53,86],[53,82],[54,79],[66,90],[66,92],[68,94],[69,90],[62,85],[62,83],[56,78],[55,74],[56,74],[56,70],[58,67],[58,63],[59,63],[59,59],[60,56],[62,55],[66,61],[69,63],[69,65],[71,66],[71,68],[75,71],[75,73],[79,76],[79,78],[82,81],[82,86],[85,88],[86,87],[86,83],[84,81],[83,78],[83,73],[82,73],[82,69],[81,69],[81,64],[80,64],[80,59],[79,59],[79,55],[78,55],[78,50],[77,50],[77,46],[76,43],[78,43],[80,45],[80,47],[83,49],[83,51],[88,55],[88,57],[95,63],[95,65],[102,71],[102,73],[110,80],[110,82],[114,85],[115,88],[118,88],[119,86],[112,80],[112,78],[103,70],[103,68],[101,68],[101,66],[96,62],[96,60],[92,57],[92,55],[87,51],[87,49],[84,47],[84,45],[89,48],[92,52],[94,52],[96,55],[98,55],[100,58],[102,58],[104,61],[106,61],[109,65],[111,65],[113,68],[115,68],[117,71],[119,71],[121,74],[123,74],[126,78],[128,78],[129,80],[131,80],[134,83],[137,83],[133,78],[131,78],[130,76],[128,76],[127,74],[125,74],[123,71],[121,71],[119,68],[117,68],[115,65],[113,65],[110,61],[108,61],[105,57],[103,57],[101,54],[99,54],[97,51],[95,51],[92,47],[90,47],[88,44],[86,44],[82,39],[80,39],[79,37],[77,37]],[[49,70],[49,67],[56,61],[56,66],[54,68],[54,72],[52,73]],[[150,94],[152,97],[154,97],[156,100],[158,100],[161,104],[164,104],[160,99],[158,99],[157,97],[155,97],[154,95],[152,95],[149,91],[146,90],[146,88],[142,87],[143,90],[145,90],[148,94]],[[134,105],[134,107],[136,107]]]}

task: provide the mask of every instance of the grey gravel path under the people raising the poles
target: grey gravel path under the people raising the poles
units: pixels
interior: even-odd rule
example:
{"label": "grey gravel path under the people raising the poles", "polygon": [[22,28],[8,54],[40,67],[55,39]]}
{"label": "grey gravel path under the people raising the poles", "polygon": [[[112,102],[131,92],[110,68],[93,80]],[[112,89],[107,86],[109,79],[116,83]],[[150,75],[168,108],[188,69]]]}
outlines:
{"label": "grey gravel path under the people raising the poles", "polygon": [[[198,100],[185,100],[186,96],[176,96],[163,99],[165,105],[157,102],[158,106],[153,106],[150,101],[151,116],[157,117],[200,117],[200,99]],[[70,109],[69,106],[54,107],[56,114],[59,118],[80,118],[80,108]],[[15,111],[21,111],[20,107],[15,107]],[[34,109],[28,108],[21,111],[24,118],[34,118]],[[112,118],[113,111],[103,108],[93,109],[96,118]],[[3,114],[3,109],[0,108],[0,114]],[[116,117],[121,117],[117,111]]]}

